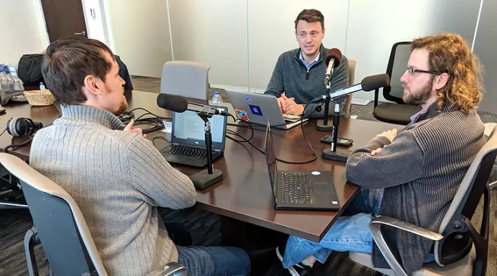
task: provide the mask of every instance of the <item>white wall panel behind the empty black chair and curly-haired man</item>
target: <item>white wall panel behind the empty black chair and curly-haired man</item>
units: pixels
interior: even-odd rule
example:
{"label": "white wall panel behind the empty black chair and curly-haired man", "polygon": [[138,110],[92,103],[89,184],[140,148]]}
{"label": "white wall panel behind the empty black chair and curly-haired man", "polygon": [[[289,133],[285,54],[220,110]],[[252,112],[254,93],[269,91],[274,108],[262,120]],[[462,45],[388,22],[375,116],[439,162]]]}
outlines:
{"label": "white wall panel behind the empty black chair and curly-haired man", "polygon": [[[471,43],[479,8],[480,0],[351,0],[345,52],[358,62],[355,79],[386,72],[398,41],[455,32]],[[374,94],[357,92],[353,98],[373,99]]]}

